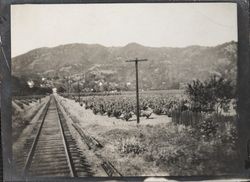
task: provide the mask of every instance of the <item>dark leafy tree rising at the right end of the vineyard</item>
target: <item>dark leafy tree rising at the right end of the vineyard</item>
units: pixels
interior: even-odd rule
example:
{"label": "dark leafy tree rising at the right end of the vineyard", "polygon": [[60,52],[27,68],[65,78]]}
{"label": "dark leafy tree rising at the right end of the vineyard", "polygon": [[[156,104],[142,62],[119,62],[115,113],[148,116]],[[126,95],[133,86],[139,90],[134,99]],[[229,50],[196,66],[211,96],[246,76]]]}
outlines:
{"label": "dark leafy tree rising at the right end of the vineyard", "polygon": [[186,93],[195,112],[227,111],[229,103],[235,98],[236,86],[229,79],[212,76],[208,80],[195,80],[188,84]]}

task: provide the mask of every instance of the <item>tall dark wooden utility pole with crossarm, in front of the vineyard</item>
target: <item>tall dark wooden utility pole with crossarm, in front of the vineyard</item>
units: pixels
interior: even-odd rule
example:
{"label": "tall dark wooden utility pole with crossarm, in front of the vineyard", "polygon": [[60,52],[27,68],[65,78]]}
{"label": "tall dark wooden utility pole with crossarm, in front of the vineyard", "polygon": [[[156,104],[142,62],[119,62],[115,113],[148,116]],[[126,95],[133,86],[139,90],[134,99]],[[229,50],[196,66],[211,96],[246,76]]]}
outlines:
{"label": "tall dark wooden utility pole with crossarm, in front of the vineyard", "polygon": [[138,85],[138,62],[147,61],[147,59],[127,60],[126,62],[135,62],[135,78],[136,78],[136,116],[137,124],[140,123],[140,103],[139,103],[139,85]]}

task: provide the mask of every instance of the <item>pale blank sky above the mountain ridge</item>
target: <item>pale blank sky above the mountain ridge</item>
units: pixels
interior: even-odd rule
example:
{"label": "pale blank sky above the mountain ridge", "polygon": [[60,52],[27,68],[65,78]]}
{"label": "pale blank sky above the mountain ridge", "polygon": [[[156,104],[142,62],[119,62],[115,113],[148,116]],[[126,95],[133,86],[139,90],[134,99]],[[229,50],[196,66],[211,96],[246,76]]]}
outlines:
{"label": "pale blank sky above the mountain ridge", "polygon": [[69,43],[186,47],[232,40],[235,3],[11,5],[12,57]]}

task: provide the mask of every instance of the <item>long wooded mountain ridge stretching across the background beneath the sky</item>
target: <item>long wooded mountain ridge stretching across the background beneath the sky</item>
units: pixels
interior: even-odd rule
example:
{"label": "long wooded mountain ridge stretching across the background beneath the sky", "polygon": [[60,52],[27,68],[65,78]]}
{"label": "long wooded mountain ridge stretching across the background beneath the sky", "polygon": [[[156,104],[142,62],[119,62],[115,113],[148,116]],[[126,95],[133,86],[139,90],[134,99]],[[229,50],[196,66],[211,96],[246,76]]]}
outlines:
{"label": "long wooded mountain ridge stretching across the background beneath the sky", "polygon": [[148,59],[139,63],[142,88],[164,89],[196,78],[206,79],[212,74],[236,79],[237,43],[234,41],[215,47],[156,48],[137,43],[105,47],[76,43],[39,48],[13,58],[12,73],[29,79],[37,75],[63,79],[85,73],[85,76],[97,75],[118,83],[133,83],[134,64],[125,60],[134,58]]}

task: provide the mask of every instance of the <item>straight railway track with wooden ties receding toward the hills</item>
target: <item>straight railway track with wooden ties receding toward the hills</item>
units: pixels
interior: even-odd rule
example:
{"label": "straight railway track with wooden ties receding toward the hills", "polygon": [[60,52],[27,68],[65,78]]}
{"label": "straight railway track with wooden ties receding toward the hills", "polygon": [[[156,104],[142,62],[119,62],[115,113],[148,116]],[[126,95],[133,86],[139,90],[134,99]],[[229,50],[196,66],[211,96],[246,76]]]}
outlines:
{"label": "straight railway track with wooden ties receding toward the hills", "polygon": [[27,139],[23,174],[28,176],[92,176],[86,158],[70,134],[54,96],[41,115],[34,137]]}

